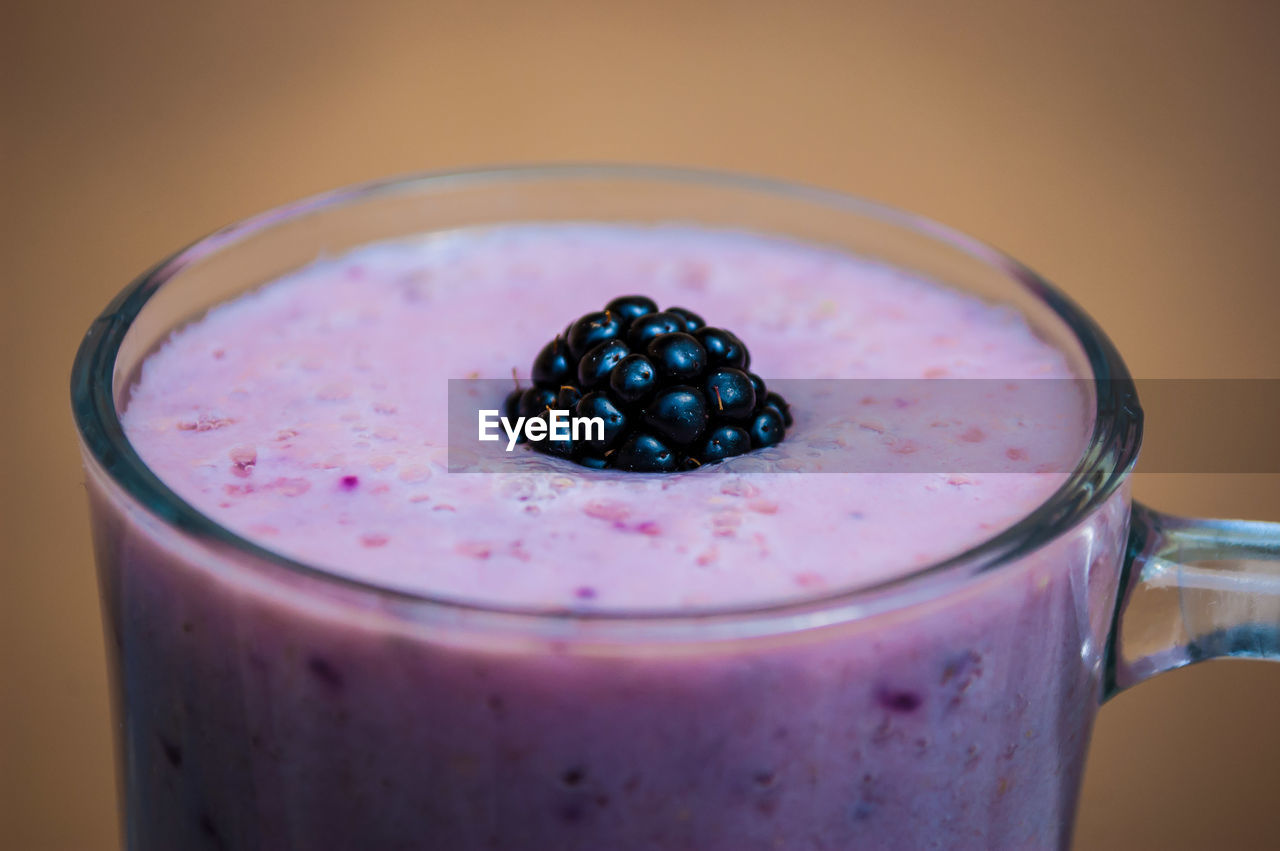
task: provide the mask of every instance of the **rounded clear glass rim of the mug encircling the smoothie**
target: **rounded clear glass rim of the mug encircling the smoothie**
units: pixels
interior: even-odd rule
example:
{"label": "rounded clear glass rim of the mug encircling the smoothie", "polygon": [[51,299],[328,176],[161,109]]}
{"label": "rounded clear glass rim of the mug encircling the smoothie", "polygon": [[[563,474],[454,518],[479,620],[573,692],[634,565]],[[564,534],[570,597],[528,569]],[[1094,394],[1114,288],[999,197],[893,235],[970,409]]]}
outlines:
{"label": "rounded clear glass rim of the mug encircling the smoothie", "polygon": [[[997,270],[1066,325],[1089,365],[1096,411],[1093,431],[1079,462],[1066,481],[1021,520],[960,553],[887,580],[778,603],[678,610],[580,610],[495,605],[406,591],[289,558],[242,537],[187,503],[142,462],[125,438],[114,393],[119,348],[151,297],[191,262],[233,248],[241,239],[268,232],[276,224],[381,195],[430,192],[460,184],[584,179],[694,183],[786,197],[909,229]],[[672,635],[686,637],[690,628],[695,628],[698,636],[786,632],[859,619],[946,593],[966,580],[1016,562],[1076,526],[1120,488],[1137,461],[1142,441],[1142,408],[1134,381],[1115,346],[1074,301],[1018,260],[947,225],[877,201],[774,178],[680,166],[585,163],[451,169],[358,183],[278,206],[220,228],[138,275],[90,326],[76,353],[70,378],[72,410],[86,463],[101,470],[129,499],[165,526],[201,544],[227,548],[255,562],[319,580],[324,586],[360,596],[371,594],[397,610],[408,607],[511,622],[572,622],[595,630],[640,627],[645,636],[655,635],[654,630],[662,626],[673,628]],[[753,622],[754,627],[744,630],[745,622]],[[716,626],[721,628],[713,628]]]}

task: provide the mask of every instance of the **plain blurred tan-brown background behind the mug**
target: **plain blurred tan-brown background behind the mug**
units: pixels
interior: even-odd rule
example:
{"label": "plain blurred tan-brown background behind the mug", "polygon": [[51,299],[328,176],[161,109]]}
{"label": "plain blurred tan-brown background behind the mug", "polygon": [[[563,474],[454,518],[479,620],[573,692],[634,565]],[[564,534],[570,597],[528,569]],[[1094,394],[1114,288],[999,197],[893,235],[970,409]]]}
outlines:
{"label": "plain blurred tan-brown background behind the mug", "polygon": [[[1280,378],[1268,0],[32,0],[4,5],[0,38],[3,847],[115,847],[74,347],[151,261],[264,207],[498,161],[756,171],[996,243],[1139,375]],[[1138,495],[1280,518],[1275,476],[1151,476]],[[1078,847],[1276,847],[1277,708],[1261,663],[1115,700]]]}

